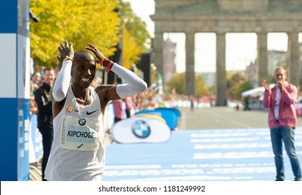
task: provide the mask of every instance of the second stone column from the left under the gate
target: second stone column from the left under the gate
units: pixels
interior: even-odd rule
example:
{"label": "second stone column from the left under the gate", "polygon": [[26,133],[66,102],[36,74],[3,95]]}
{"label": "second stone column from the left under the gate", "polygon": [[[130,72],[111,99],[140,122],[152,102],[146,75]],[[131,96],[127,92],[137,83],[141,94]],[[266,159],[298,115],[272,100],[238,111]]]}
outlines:
{"label": "second stone column from the left under the gate", "polygon": [[186,32],[186,95],[195,95],[195,33]]}

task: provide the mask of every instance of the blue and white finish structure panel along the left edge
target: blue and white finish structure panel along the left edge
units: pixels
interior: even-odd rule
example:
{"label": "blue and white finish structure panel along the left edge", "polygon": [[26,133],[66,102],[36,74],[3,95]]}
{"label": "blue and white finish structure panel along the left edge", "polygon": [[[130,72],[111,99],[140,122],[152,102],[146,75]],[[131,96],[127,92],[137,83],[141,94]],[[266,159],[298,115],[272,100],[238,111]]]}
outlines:
{"label": "blue and white finish structure panel along the left edge", "polygon": [[0,180],[29,180],[29,0],[0,7]]}

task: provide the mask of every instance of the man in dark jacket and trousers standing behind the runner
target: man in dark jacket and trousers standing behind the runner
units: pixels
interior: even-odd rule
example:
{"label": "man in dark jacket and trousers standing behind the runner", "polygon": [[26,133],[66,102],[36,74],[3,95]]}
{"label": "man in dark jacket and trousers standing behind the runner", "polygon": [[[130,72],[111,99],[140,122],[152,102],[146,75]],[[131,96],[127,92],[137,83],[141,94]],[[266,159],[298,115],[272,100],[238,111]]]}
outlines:
{"label": "man in dark jacket and trousers standing behind the runner", "polygon": [[43,159],[42,159],[42,178],[52,148],[54,139],[54,128],[52,125],[52,100],[50,98],[50,88],[54,84],[54,69],[45,68],[43,74],[43,84],[36,90],[35,100],[38,105],[38,129],[42,134]]}

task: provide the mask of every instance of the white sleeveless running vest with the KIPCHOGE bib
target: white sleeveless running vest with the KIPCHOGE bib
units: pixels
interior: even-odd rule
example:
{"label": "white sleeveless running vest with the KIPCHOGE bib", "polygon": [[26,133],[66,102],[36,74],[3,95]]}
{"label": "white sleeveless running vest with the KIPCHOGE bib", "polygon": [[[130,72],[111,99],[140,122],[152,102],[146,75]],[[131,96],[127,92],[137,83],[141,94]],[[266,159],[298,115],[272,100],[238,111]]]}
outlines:
{"label": "white sleeveless running vest with the KIPCHOGE bib", "polygon": [[78,104],[71,86],[54,118],[54,142],[45,169],[46,180],[100,180],[105,165],[104,122],[93,87],[91,104]]}

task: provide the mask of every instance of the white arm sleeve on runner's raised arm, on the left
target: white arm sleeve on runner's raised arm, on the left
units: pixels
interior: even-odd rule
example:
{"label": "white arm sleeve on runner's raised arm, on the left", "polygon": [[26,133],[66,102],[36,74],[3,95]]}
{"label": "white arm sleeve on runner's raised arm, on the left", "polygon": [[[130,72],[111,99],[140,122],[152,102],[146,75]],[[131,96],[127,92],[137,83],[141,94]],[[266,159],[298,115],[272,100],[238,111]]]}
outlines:
{"label": "white arm sleeve on runner's raised arm, on the left", "polygon": [[54,87],[52,88],[52,96],[56,102],[61,102],[66,98],[71,78],[71,65],[73,65],[72,61],[64,61],[59,75],[56,78]]}

